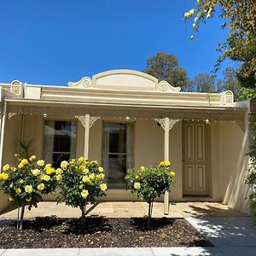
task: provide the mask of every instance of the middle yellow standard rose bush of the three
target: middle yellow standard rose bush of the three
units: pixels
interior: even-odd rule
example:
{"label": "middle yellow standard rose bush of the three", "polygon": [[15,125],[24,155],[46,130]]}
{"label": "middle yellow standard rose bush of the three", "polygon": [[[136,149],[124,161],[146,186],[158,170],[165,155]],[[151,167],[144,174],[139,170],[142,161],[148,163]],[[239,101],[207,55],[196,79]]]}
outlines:
{"label": "middle yellow standard rose bush of the three", "polygon": [[79,207],[82,214],[82,227],[85,227],[86,205],[94,204],[96,199],[106,195],[103,168],[96,161],[72,159],[61,162],[62,178],[59,183],[61,192],[58,201],[67,206]]}

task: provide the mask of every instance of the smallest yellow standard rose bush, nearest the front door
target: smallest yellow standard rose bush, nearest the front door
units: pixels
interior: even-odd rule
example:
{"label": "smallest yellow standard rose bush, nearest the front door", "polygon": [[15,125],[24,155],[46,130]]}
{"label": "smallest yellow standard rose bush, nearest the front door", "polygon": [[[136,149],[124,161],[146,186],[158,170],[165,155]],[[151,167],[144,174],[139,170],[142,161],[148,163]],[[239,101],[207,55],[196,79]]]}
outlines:
{"label": "smallest yellow standard rose bush, nearest the front door", "polygon": [[150,226],[154,199],[170,191],[174,183],[175,173],[170,170],[170,165],[170,161],[165,160],[157,166],[141,166],[138,171],[131,169],[125,176],[131,194],[148,202],[147,228]]}

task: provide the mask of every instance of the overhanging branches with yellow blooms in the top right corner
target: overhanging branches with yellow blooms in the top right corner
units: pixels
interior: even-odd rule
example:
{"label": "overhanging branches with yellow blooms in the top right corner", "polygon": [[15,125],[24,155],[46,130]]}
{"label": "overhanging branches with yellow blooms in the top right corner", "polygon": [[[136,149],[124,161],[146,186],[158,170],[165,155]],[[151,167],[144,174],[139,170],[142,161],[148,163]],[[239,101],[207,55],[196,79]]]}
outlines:
{"label": "overhanging branches with yellow blooms in the top right corner", "polygon": [[229,29],[224,44],[219,44],[222,55],[218,58],[216,69],[226,58],[240,61],[238,79],[243,87],[256,85],[256,1],[255,0],[197,0],[195,9],[184,14],[185,20],[194,18],[193,30],[198,31],[200,23],[216,15],[224,19],[222,27]]}

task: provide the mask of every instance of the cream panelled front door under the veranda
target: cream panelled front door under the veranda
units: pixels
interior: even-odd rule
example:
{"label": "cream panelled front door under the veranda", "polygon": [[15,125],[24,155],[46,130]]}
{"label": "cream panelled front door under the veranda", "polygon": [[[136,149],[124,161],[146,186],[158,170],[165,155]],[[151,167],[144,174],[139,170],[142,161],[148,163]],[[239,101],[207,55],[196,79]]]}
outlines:
{"label": "cream panelled front door under the veranda", "polygon": [[183,122],[183,196],[209,195],[210,125]]}

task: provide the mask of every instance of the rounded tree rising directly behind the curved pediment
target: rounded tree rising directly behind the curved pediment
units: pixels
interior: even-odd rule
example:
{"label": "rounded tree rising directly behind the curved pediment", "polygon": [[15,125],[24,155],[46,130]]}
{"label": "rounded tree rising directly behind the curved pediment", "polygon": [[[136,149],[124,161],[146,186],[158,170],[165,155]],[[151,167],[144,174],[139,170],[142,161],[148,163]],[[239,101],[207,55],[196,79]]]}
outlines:
{"label": "rounded tree rising directly behind the curved pediment", "polygon": [[175,55],[159,52],[147,61],[147,69],[143,71],[160,80],[166,80],[173,86],[184,86],[188,84],[186,71],[178,67]]}

